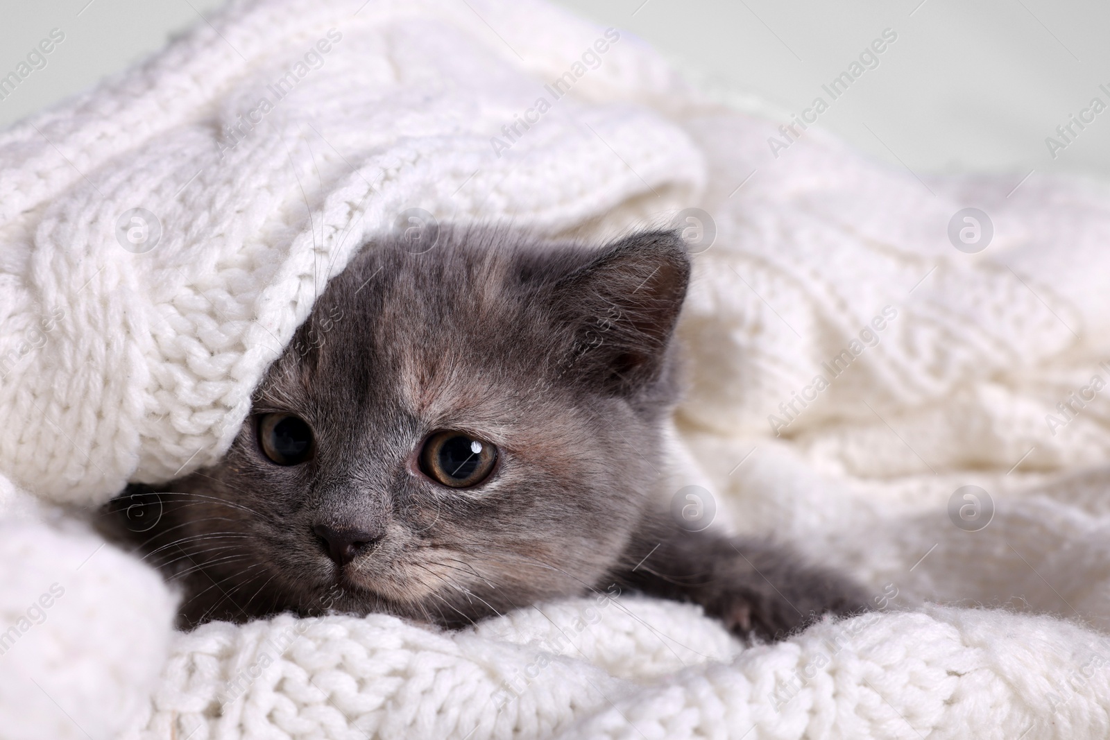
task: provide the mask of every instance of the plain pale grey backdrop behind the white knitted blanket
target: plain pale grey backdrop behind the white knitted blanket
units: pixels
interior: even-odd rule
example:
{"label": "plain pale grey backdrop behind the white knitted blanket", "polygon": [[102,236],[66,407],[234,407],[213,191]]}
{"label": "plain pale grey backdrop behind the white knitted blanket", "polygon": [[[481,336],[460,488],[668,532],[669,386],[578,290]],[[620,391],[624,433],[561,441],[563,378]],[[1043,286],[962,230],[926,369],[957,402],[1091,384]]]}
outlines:
{"label": "plain pale grey backdrop behind the white knitted blanket", "polygon": [[[462,2],[463,0],[458,0]],[[222,0],[0,0],[0,74],[52,28],[65,41],[0,101],[6,125],[123,69]],[[1054,0],[561,0],[652,42],[724,101],[808,107],[885,28],[898,40],[820,125],[916,172],[1110,175],[1110,110],[1049,155],[1045,139],[1110,104],[1110,3]],[[784,121],[787,116],[784,116]]]}

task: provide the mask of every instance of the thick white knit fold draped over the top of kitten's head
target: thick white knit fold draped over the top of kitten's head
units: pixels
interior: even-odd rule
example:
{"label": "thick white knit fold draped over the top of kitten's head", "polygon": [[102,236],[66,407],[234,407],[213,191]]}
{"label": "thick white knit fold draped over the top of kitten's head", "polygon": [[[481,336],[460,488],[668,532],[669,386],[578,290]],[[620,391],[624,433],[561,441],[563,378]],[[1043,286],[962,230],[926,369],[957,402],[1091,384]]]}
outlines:
{"label": "thick white knit fold draped over the top of kitten's head", "polygon": [[[360,4],[239,6],[222,30],[198,27],[0,135],[0,357],[13,353],[0,460],[14,480],[79,501],[218,460],[327,278],[406,209],[557,233],[603,215],[632,223],[703,184],[689,138],[625,102],[677,91],[633,39],[574,85],[608,102],[553,100],[497,156],[491,138],[543,92],[533,73],[566,72],[567,50],[576,61],[602,31],[542,6]],[[279,100],[290,70],[305,75]],[[137,207],[161,223],[144,254],[114,235]]]}

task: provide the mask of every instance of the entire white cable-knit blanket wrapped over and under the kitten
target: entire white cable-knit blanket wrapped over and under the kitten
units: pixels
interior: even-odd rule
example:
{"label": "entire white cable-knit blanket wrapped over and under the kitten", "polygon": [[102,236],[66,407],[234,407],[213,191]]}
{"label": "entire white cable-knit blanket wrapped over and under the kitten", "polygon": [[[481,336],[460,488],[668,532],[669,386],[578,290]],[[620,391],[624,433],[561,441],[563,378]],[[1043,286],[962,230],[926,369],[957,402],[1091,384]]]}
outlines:
{"label": "entire white cable-knit blanket wrapped over and under the kitten", "polygon": [[[1104,189],[919,179],[537,0],[210,20],[0,133],[0,734],[1110,733]],[[59,505],[219,459],[326,280],[411,209],[592,239],[680,215],[673,489],[876,611],[755,647],[618,592],[457,632],[173,632],[160,577]]]}

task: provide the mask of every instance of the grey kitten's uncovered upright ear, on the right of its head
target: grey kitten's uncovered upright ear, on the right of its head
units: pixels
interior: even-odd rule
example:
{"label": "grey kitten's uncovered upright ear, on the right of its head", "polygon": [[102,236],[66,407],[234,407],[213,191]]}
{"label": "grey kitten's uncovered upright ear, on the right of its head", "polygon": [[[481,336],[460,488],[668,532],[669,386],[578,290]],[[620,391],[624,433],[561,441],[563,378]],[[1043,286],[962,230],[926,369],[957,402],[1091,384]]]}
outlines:
{"label": "grey kitten's uncovered upright ear, on the right of its head", "polygon": [[555,307],[574,335],[567,365],[622,391],[655,378],[689,274],[678,233],[653,231],[606,245],[559,280]]}

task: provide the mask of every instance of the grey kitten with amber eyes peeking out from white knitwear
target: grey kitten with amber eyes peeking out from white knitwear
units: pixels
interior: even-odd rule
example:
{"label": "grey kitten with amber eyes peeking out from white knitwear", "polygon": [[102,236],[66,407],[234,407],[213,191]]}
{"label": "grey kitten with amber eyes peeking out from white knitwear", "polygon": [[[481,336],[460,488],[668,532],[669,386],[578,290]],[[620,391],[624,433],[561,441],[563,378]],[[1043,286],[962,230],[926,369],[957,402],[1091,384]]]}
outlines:
{"label": "grey kitten with amber eyes peeking out from white knitwear", "polygon": [[844,578],[657,504],[690,272],[676,234],[406,245],[372,242],[331,281],[223,462],[109,505],[184,585],[182,627],[285,610],[458,627],[613,584],[771,639],[866,608]]}

